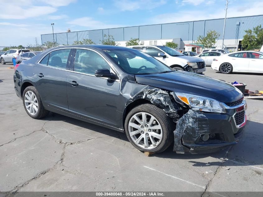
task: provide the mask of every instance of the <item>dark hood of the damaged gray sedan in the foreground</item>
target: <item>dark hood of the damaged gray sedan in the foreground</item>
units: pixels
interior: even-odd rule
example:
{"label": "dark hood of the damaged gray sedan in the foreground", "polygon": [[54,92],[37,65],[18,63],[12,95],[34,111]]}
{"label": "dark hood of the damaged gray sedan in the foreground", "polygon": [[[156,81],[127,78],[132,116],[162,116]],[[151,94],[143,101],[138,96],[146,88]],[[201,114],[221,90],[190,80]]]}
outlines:
{"label": "dark hood of the damaged gray sedan in the foreground", "polygon": [[185,71],[170,73],[135,75],[138,83],[169,91],[205,96],[220,102],[230,103],[242,99],[242,94],[232,85]]}

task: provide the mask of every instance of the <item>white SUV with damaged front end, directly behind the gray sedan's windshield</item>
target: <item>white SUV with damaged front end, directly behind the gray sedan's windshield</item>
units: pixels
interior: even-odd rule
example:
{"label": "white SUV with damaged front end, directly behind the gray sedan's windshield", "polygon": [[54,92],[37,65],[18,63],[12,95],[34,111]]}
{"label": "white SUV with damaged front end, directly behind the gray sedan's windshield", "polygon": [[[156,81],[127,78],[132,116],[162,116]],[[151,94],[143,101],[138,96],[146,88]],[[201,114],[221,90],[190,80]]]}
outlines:
{"label": "white SUV with damaged front end, directly behind the gray sedan's windshield", "polygon": [[127,46],[129,48],[140,50],[155,59],[158,59],[167,66],[177,70],[188,71],[191,73],[202,74],[206,68],[204,60],[197,57],[186,56],[175,49],[162,45],[137,45]]}

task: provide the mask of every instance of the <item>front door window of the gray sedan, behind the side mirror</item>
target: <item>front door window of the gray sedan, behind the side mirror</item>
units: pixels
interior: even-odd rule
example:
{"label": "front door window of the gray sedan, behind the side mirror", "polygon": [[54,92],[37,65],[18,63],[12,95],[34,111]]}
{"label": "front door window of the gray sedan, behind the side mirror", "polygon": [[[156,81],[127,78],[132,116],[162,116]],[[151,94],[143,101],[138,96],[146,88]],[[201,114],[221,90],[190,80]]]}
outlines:
{"label": "front door window of the gray sedan, behind the side mirror", "polygon": [[77,49],[74,60],[74,71],[95,74],[97,69],[106,68],[110,65],[96,52],[86,49]]}

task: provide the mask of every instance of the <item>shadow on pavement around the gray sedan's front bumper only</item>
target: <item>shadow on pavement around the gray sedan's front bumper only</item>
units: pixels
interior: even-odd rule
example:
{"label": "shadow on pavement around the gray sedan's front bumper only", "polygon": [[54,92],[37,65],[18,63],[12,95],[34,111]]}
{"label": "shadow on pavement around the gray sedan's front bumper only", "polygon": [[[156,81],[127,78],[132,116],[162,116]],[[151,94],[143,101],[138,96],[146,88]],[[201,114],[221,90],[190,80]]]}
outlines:
{"label": "shadow on pavement around the gray sedan's front bumper only", "polygon": [[[242,137],[236,145],[225,150],[209,154],[176,154],[173,152],[173,144],[164,152],[154,154],[155,157],[168,159],[183,159],[192,163],[194,167],[218,166],[222,161],[227,162],[228,166],[252,166],[263,165],[263,124],[247,121],[246,128]],[[200,162],[199,159],[214,157],[215,162]],[[196,161],[199,160],[199,161]],[[256,167],[258,168],[258,167]],[[262,169],[262,167],[259,167]]]}

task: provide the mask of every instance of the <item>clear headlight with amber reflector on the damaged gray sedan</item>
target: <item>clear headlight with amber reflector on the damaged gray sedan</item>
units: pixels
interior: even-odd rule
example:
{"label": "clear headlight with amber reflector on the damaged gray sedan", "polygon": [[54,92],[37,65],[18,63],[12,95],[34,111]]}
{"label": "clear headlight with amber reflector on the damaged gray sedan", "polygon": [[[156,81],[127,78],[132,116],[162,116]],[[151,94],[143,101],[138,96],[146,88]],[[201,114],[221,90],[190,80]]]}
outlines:
{"label": "clear headlight with amber reflector on the damaged gray sedan", "polygon": [[175,95],[192,110],[225,114],[222,103],[211,98],[175,92]]}

